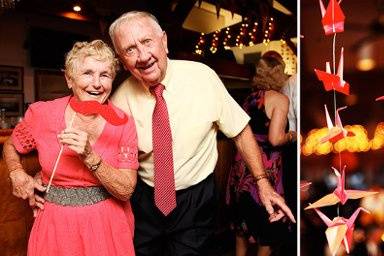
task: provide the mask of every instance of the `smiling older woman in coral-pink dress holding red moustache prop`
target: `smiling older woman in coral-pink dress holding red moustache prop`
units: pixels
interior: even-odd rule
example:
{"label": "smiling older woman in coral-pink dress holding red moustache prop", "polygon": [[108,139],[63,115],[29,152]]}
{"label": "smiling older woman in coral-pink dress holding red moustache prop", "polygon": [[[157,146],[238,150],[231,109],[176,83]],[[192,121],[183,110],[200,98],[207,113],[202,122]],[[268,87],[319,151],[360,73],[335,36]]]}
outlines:
{"label": "smiling older woman in coral-pink dress holding red moustache prop", "polygon": [[[133,119],[107,100],[117,68],[103,41],[75,43],[65,60],[73,96],[32,104],[4,144],[13,194],[39,208],[29,256],[135,254],[137,137]],[[20,164],[34,149],[43,184],[56,170],[44,199],[34,189],[45,187]]]}

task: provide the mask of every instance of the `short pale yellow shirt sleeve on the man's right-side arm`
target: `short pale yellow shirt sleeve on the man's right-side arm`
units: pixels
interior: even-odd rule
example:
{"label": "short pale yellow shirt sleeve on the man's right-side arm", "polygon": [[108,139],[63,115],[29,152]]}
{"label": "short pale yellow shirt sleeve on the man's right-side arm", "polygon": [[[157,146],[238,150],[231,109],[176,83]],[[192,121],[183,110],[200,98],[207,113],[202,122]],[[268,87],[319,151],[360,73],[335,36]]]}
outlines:
{"label": "short pale yellow shirt sleeve on the man's right-side arm", "polygon": [[211,82],[217,95],[218,119],[216,124],[225,136],[233,138],[245,128],[250,117],[228,93],[223,82],[214,71],[211,73]]}

